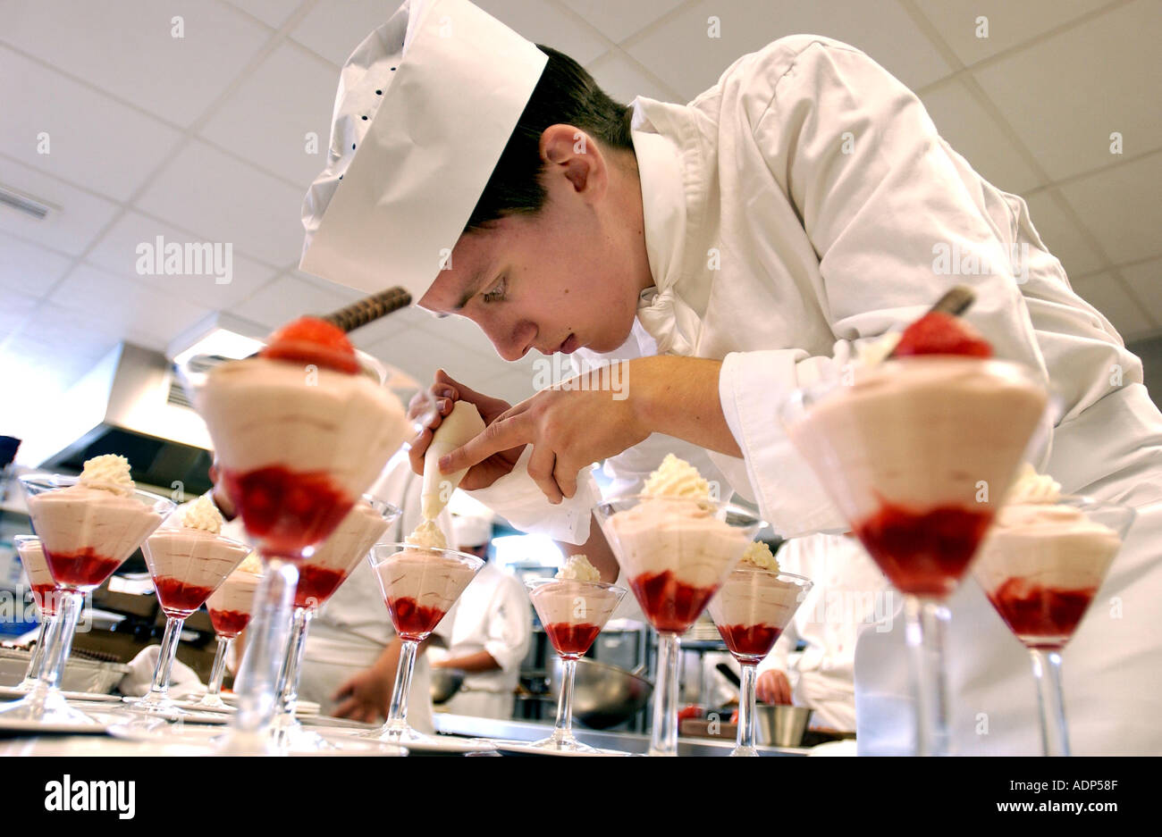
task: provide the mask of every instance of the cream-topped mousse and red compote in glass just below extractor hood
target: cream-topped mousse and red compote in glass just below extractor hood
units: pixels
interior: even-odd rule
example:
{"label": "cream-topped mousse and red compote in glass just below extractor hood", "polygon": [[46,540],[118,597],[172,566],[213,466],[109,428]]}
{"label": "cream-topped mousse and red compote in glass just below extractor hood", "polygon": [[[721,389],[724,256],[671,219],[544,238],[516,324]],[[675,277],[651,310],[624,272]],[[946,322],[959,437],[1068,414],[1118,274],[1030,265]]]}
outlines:
{"label": "cream-topped mousse and red compote in glass just below extractor hood", "polygon": [[95,456],[76,484],[28,498],[28,514],[60,586],[92,590],[113,575],[162,524],[162,514],[134,497],[123,456]]}

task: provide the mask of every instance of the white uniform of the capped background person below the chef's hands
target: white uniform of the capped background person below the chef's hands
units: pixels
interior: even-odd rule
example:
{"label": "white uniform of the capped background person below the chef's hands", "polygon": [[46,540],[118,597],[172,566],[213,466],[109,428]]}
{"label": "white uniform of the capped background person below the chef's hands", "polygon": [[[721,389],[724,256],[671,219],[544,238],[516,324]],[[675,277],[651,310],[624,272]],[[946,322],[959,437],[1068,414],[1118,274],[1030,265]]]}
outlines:
{"label": "white uniform of the capped background person below the chef's hands", "polygon": [[465,673],[460,691],[444,708],[456,715],[511,719],[521,661],[532,634],[532,607],[524,585],[486,563],[460,594],[451,620],[447,657],[488,651],[501,668]]}

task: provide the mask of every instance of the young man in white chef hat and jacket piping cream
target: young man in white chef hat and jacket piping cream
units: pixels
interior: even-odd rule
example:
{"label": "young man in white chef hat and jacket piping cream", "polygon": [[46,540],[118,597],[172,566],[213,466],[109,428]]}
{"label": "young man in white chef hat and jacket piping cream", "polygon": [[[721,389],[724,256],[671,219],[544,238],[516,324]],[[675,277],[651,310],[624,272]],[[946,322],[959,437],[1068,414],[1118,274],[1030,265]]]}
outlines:
{"label": "young man in white chef hat and jacket piping cream", "polygon": [[[1042,470],[1138,511],[1066,654],[1074,749],[1162,751],[1162,416],[1141,363],[1073,293],[1025,202],[977,175],[868,56],[783,37],[690,104],[626,108],[465,0],[413,2],[344,67],[303,215],[304,270],[401,284],[475,322],[507,360],[632,356],[515,406],[447,375],[433,384],[489,425],[443,470],[471,466],[479,499],[583,543],[610,579],[588,466],[640,468],[634,446],[652,434],[705,448],[782,535],[845,529],[780,404],[970,286],[971,325],[1060,397]],[[954,750],[1035,752],[1026,652],[978,589],[951,605]],[[860,637],[861,752],[913,746],[901,622]]]}

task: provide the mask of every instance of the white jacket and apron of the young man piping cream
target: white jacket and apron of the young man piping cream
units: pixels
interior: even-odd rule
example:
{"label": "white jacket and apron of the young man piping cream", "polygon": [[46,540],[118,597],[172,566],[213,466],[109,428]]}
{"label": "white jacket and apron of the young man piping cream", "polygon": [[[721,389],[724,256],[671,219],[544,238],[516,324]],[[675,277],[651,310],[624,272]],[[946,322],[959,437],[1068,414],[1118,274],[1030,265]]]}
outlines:
{"label": "white jacket and apron of the young man piping cream", "polygon": [[[977,301],[967,319],[997,356],[1024,363],[1060,398],[1041,468],[1067,492],[1139,511],[1100,592],[1126,606],[1118,619],[1086,620],[1066,652],[1074,749],[1162,752],[1155,698],[1162,666],[1147,662],[1162,649],[1162,625],[1148,606],[1129,607],[1162,594],[1162,416],[1141,383],[1141,362],[1073,293],[1025,201],[976,174],[938,136],[911,91],[830,38],[791,36],[744,56],[690,104],[639,98],[633,107],[655,281],[643,294],[638,320],[662,353],[723,361],[719,396],[743,460],[710,455],[732,486],[753,497],[784,535],[846,529],[787,440],[781,404],[794,388],[846,361],[853,345],[916,319],[952,284],[973,287]],[[983,254],[994,273],[974,275],[980,260],[957,259],[960,272],[947,275],[941,248]],[[1010,253],[1017,257],[1011,264]],[[519,528],[575,543],[588,536],[586,510],[597,499],[591,481],[560,506],[538,497],[519,469],[492,488],[479,499]],[[978,590],[980,600],[971,599],[971,589],[952,601],[954,714],[974,709],[985,693],[1033,697],[1027,668],[1017,664],[1021,649],[1002,636],[999,618],[980,607]],[[906,661],[899,649],[881,648],[902,641],[899,621],[891,633],[861,635],[865,752],[909,746],[894,737],[911,735]],[[989,707],[991,731],[976,733],[980,713],[973,712],[956,720],[955,748],[1035,750],[1026,735],[1035,730],[1027,701]],[[1002,714],[1012,721],[1004,734]],[[881,743],[885,749],[876,749]]]}

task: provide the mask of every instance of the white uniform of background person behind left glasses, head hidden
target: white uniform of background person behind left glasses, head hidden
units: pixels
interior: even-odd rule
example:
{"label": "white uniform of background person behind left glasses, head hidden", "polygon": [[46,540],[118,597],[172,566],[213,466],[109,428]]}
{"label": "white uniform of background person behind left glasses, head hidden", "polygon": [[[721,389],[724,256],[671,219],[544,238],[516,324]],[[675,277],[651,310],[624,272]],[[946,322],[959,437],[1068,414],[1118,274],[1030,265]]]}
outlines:
{"label": "white uniform of background person behind left glasses, head hidden", "polygon": [[[396,454],[372,489],[373,495],[402,508],[381,541],[402,541],[419,522],[419,489],[421,479],[411,472],[407,455]],[[375,571],[368,561],[360,561],[311,620],[299,697],[320,703],[321,712],[330,714],[336,707],[331,700],[335,691],[368,669],[394,638]],[[411,674],[408,723],[421,733],[435,733],[431,668],[424,652],[417,655]]]}

